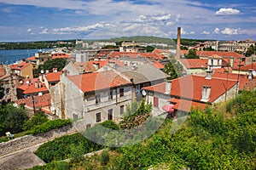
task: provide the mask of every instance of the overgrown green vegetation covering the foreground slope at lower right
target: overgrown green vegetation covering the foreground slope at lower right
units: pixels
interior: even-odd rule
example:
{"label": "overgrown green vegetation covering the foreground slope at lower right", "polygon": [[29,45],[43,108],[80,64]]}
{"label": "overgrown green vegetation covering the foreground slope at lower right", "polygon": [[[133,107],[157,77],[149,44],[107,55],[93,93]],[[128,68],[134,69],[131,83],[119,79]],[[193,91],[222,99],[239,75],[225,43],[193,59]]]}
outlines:
{"label": "overgrown green vegetation covering the foreground slope at lower right", "polygon": [[255,169],[256,91],[190,115],[184,123],[166,119],[141,143],[71,161],[68,168]]}

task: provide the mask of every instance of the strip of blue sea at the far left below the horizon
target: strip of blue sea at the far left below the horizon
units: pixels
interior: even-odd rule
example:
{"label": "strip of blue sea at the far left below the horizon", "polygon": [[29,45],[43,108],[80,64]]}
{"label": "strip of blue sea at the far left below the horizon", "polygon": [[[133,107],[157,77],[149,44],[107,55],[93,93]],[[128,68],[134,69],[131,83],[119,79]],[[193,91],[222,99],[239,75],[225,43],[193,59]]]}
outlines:
{"label": "strip of blue sea at the far left below the horizon", "polygon": [[35,56],[38,52],[49,51],[49,48],[44,49],[12,49],[0,50],[0,63],[3,65],[10,65],[19,62],[22,59]]}

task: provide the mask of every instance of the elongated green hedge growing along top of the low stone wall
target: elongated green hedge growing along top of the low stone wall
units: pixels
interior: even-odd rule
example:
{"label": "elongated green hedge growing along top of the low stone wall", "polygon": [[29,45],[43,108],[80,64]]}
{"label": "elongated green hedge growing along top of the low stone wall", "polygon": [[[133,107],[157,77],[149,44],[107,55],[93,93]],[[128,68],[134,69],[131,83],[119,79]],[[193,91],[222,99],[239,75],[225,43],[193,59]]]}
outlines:
{"label": "elongated green hedge growing along top of the low stone wall", "polygon": [[51,129],[65,127],[67,125],[71,124],[71,121],[69,119],[55,119],[49,122],[44,122],[42,125],[38,125],[34,127],[31,131],[28,133],[31,133],[33,135],[39,134],[39,133],[46,133]]}

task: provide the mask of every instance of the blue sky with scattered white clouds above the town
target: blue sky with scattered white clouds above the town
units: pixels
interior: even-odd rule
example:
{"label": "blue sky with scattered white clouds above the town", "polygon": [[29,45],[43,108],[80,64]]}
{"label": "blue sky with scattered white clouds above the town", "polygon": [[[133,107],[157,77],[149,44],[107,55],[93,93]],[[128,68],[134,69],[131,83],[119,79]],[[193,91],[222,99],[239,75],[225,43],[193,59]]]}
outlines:
{"label": "blue sky with scattered white clouds above the town", "polygon": [[156,36],[256,41],[255,0],[0,0],[0,42]]}

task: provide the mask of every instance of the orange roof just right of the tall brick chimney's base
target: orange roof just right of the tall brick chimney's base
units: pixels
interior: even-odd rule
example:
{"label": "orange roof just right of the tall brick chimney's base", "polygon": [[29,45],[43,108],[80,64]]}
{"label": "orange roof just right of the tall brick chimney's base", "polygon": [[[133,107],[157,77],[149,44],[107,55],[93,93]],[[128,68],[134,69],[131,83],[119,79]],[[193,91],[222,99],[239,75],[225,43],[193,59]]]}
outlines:
{"label": "orange roof just right of the tall brick chimney's base", "polygon": [[187,69],[206,69],[208,59],[179,59],[179,62],[181,62]]}

